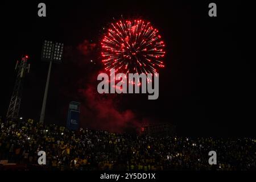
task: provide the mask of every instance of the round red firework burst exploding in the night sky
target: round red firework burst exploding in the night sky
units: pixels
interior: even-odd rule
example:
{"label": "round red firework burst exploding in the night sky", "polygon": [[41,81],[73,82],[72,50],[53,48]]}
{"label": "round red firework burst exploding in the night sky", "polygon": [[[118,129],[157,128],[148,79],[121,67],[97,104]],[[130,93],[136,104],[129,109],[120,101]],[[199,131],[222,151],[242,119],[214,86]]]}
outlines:
{"label": "round red firework burst exploding in the night sky", "polygon": [[156,28],[143,20],[121,20],[109,28],[101,42],[106,71],[157,73],[164,67],[164,42]]}

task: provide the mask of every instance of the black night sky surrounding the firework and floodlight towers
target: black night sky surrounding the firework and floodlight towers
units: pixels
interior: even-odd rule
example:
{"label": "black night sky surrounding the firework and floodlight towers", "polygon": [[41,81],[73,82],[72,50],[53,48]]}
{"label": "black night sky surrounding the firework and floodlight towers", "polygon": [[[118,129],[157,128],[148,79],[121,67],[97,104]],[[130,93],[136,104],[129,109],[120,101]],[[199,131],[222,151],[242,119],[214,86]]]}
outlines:
{"label": "black night sky surrounding the firework and floodlight towers", "polygon": [[[65,125],[72,100],[87,108],[81,122],[93,122],[93,115],[84,121],[92,101],[80,91],[97,86],[92,79],[102,69],[98,47],[102,28],[122,15],[149,20],[158,28],[166,42],[166,67],[159,72],[158,100],[142,94],[114,96],[110,99],[115,101],[108,102],[114,113],[129,110],[139,122],[170,122],[179,135],[255,135],[255,63],[242,53],[247,28],[242,2],[216,2],[214,18],[208,16],[210,1],[46,2],[46,18],[38,17],[38,3],[5,1],[1,6],[0,115],[6,115],[10,102],[16,60],[26,53],[31,73],[24,83],[20,115],[39,119],[48,68],[40,61],[40,52],[47,39],[65,44],[63,64],[52,67],[47,122]],[[88,55],[77,49],[85,40],[96,44]]]}

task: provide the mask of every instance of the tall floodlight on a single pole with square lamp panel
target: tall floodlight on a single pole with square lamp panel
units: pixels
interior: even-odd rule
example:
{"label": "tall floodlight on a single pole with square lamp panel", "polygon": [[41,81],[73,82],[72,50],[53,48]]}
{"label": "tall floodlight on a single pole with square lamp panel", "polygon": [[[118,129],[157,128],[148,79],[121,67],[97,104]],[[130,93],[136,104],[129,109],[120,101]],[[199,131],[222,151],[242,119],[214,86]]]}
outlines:
{"label": "tall floodlight on a single pole with square lamp panel", "polygon": [[51,75],[52,63],[60,64],[62,62],[63,46],[64,46],[63,43],[52,42],[49,40],[44,40],[44,43],[43,43],[41,60],[49,62],[49,69],[48,69],[48,75],[47,75],[47,81],[46,81],[46,88],[44,89],[44,99],[43,99],[43,105],[42,105],[42,110],[40,114],[40,120],[39,120],[39,122],[41,123],[44,122],[44,115],[46,112],[46,101],[47,101],[49,77]]}

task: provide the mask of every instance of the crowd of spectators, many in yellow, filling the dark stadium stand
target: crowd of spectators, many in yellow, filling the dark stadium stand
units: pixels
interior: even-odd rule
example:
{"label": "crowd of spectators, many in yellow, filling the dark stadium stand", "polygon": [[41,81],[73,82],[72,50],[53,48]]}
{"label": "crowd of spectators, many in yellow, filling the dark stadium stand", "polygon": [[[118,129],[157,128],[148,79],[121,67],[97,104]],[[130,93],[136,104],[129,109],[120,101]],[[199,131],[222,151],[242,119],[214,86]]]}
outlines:
{"label": "crowd of spectators, many in yellow, filling the dark stadium stand", "polygon": [[[0,160],[50,170],[255,170],[254,138],[150,137],[79,129],[32,119],[0,122]],[[209,151],[217,164],[209,165]]]}

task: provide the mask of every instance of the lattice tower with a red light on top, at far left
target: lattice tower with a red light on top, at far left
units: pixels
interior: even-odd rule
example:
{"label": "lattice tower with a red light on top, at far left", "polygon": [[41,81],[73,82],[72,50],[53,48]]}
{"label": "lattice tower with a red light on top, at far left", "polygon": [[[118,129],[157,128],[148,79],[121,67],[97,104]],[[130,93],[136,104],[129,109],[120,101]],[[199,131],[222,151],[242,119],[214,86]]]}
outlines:
{"label": "lattice tower with a red light on top, at far left", "polygon": [[18,72],[14,85],[13,94],[6,114],[7,120],[17,120],[19,115],[19,107],[22,96],[23,82],[26,72],[30,72],[30,64],[27,64],[28,56],[22,56],[21,61],[16,62],[15,70]]}

